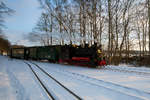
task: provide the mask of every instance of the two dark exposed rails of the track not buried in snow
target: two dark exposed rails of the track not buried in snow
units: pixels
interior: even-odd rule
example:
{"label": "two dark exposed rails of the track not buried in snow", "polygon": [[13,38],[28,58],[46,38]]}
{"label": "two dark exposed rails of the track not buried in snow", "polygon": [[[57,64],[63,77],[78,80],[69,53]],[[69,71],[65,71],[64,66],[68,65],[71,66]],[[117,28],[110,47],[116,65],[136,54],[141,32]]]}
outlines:
{"label": "two dark exposed rails of the track not buried in snow", "polygon": [[[33,72],[33,74],[35,75],[35,77],[37,78],[37,80],[39,81],[39,83],[41,84],[42,88],[44,89],[44,91],[49,96],[50,100],[57,100],[56,96],[53,96],[54,93],[51,93],[49,91],[49,88],[47,88],[47,86],[42,82],[42,79],[40,79],[40,77],[38,76],[38,74],[36,73],[36,71],[32,68],[31,64],[29,64],[28,62],[24,62],[24,63],[26,63],[29,66],[29,68],[31,69],[31,71]],[[30,62],[30,63],[32,63],[32,62]],[[47,73],[45,70],[43,70],[40,66],[38,66],[35,63],[32,63],[32,64],[35,65],[42,73],[44,73],[45,75],[47,75],[50,79],[52,79],[57,84],[59,84],[59,86],[61,86],[63,88],[63,90],[66,90],[69,94],[71,94],[72,96],[74,96],[76,98],[76,100],[82,100],[81,97],[79,97],[73,91],[71,91],[66,86],[64,86],[62,83],[60,83],[58,80],[56,80],[53,76],[51,76],[49,73]]]}

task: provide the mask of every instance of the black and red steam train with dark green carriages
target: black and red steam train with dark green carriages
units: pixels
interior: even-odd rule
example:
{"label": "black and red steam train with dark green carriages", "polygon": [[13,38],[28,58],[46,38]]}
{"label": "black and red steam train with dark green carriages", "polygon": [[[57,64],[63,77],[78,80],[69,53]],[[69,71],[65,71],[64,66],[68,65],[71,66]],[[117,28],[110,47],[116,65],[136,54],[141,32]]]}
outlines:
{"label": "black and red steam train with dark green carriages", "polygon": [[[52,45],[11,48],[10,57],[26,60],[48,60],[53,63],[96,67],[101,65],[101,46]],[[102,65],[105,65],[103,63]]]}

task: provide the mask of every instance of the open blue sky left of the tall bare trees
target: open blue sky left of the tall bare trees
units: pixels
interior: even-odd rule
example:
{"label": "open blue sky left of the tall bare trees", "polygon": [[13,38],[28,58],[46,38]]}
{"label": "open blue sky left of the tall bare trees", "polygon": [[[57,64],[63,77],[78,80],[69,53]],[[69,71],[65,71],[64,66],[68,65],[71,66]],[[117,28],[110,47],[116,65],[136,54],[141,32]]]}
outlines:
{"label": "open blue sky left of the tall bare trees", "polygon": [[[1,1],[1,0],[0,0]],[[31,44],[25,35],[29,34],[35,27],[42,10],[38,0],[2,0],[15,12],[11,16],[6,16],[4,33],[12,44]]]}

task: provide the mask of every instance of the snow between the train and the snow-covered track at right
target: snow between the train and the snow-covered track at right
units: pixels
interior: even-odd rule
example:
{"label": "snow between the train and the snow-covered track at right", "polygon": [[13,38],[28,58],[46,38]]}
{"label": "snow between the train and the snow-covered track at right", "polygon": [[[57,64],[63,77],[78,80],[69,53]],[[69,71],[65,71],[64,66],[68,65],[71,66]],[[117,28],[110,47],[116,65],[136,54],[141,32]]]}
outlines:
{"label": "snow between the train and the snow-covered track at right", "polygon": [[[123,86],[139,89],[150,93],[150,68],[145,67],[125,67],[125,66],[105,66],[103,69],[84,68],[78,66],[52,65],[49,63],[39,63],[45,66],[55,66],[60,70],[86,75],[92,78],[120,84]],[[59,67],[61,66],[61,67]],[[135,68],[135,70],[134,70]],[[119,70],[116,70],[119,69]],[[123,69],[126,69],[125,71]],[[137,71],[137,72],[136,72]],[[144,72],[144,73],[139,73]],[[146,72],[146,74],[145,74]]]}

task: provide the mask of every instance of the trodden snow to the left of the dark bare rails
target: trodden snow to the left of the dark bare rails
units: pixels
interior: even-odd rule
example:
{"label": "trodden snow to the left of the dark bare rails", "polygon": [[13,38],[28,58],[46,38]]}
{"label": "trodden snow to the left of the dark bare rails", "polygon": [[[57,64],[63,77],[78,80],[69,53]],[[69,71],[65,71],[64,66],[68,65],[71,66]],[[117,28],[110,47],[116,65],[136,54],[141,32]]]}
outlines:
{"label": "trodden snow to the left of the dark bare rails", "polygon": [[37,83],[23,61],[0,56],[0,100],[48,100]]}

